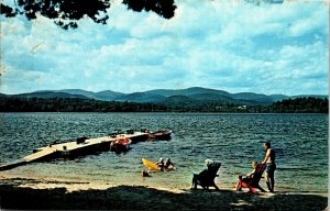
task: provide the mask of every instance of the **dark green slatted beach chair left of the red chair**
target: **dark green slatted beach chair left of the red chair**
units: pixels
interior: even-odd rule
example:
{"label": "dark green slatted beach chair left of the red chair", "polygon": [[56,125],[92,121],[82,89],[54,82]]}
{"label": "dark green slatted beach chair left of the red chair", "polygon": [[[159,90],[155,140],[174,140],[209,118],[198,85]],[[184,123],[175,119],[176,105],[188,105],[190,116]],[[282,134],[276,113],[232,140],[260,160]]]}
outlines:
{"label": "dark green slatted beach chair left of the red chair", "polygon": [[221,164],[211,163],[207,169],[202,170],[199,174],[194,174],[191,188],[197,189],[197,185],[201,186],[204,189],[209,189],[209,187],[215,187],[216,190],[219,190],[218,186],[215,182],[216,177]]}

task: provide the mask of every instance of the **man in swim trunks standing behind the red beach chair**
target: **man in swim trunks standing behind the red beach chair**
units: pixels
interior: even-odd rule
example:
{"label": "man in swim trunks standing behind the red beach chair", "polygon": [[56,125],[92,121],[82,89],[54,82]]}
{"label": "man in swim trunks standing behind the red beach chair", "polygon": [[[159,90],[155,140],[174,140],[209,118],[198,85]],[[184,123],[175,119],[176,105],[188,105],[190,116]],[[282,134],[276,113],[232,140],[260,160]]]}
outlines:
{"label": "man in swim trunks standing behind the red beach chair", "polygon": [[275,151],[271,147],[271,142],[266,142],[264,144],[264,147],[266,151],[266,156],[265,159],[263,160],[263,164],[266,164],[265,180],[270,192],[274,192],[274,185],[275,185],[274,173],[276,169]]}

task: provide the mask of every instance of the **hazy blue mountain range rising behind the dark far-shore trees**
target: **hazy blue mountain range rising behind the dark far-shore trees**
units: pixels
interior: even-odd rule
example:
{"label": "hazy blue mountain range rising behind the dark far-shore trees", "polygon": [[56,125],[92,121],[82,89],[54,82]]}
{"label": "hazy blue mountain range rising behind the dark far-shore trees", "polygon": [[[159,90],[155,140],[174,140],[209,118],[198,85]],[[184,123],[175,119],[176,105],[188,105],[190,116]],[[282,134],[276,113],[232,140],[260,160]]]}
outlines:
{"label": "hazy blue mountain range rising behind the dark far-shore trees", "polygon": [[284,96],[284,95],[263,95],[254,92],[230,93],[223,90],[208,89],[201,87],[191,87],[187,89],[154,89],[143,92],[122,93],[111,90],[99,92],[86,91],[82,89],[62,89],[62,90],[41,90],[29,93],[4,95],[0,97],[16,98],[76,98],[76,99],[95,99],[101,101],[129,101],[141,103],[157,103],[165,106],[183,106],[183,104],[202,104],[205,102],[215,103],[234,103],[234,104],[253,104],[267,106],[273,102],[289,98],[315,97],[328,98],[328,96],[301,95],[301,96]]}

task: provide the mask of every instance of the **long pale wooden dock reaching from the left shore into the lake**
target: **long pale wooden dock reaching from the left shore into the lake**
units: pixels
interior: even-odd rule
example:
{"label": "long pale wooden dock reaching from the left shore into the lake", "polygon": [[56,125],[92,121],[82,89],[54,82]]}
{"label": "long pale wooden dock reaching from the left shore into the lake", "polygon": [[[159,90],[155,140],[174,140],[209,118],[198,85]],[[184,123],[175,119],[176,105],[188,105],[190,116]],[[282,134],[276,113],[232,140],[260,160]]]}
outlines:
{"label": "long pale wooden dock reaching from the left shore into the lake", "polygon": [[148,138],[148,133],[130,131],[125,134],[112,134],[109,136],[96,138],[79,137],[75,142],[50,144],[48,146],[34,149],[33,154],[31,155],[0,166],[0,170],[9,170],[14,167],[33,162],[44,162],[54,158],[76,157],[109,151],[110,143],[118,137],[129,137],[132,140],[132,143],[138,143],[146,141]]}

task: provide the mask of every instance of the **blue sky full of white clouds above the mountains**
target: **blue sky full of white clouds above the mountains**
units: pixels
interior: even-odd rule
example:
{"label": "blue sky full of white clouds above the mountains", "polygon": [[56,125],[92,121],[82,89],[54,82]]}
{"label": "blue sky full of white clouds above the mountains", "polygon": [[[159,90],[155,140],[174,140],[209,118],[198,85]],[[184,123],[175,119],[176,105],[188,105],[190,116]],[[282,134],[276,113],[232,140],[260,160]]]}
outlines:
{"label": "blue sky full of white clouds above the mountains", "polygon": [[328,95],[329,2],[176,0],[176,5],[167,20],[114,0],[107,25],[84,19],[67,31],[43,16],[1,16],[0,92],[205,87]]}

